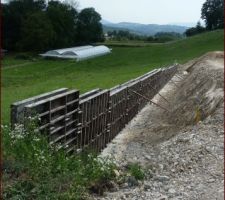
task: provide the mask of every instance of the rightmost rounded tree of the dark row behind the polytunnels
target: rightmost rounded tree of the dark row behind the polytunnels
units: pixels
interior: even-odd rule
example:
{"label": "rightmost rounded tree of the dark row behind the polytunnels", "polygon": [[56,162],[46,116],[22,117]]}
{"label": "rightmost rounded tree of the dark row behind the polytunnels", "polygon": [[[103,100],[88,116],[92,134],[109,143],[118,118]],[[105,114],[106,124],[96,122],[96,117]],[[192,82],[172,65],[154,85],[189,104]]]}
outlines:
{"label": "rightmost rounded tree of the dark row behind the polytunnels", "polygon": [[78,15],[77,41],[80,43],[98,42],[103,40],[101,16],[94,8],[85,8]]}

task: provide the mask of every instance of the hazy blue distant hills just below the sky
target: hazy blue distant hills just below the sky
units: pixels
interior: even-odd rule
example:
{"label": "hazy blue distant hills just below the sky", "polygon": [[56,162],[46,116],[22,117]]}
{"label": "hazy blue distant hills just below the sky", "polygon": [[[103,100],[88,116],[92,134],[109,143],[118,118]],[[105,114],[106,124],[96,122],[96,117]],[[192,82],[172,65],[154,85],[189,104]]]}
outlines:
{"label": "hazy blue distant hills just below the sky", "polygon": [[128,30],[138,35],[155,35],[158,32],[176,32],[183,34],[188,27],[178,25],[159,25],[159,24],[139,24],[131,22],[111,23],[102,20],[103,31]]}

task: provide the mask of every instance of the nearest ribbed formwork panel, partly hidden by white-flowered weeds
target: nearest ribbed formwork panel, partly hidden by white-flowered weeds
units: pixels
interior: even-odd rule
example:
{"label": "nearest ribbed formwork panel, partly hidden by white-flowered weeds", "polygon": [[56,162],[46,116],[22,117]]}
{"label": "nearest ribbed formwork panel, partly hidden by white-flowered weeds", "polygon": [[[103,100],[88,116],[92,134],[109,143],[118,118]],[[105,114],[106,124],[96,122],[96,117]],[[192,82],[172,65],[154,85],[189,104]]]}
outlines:
{"label": "nearest ribbed formwork panel, partly hidden by white-flowered weeds", "polygon": [[25,106],[25,118],[37,116],[38,129],[48,135],[50,144],[69,153],[77,140],[78,106],[79,91],[71,90]]}

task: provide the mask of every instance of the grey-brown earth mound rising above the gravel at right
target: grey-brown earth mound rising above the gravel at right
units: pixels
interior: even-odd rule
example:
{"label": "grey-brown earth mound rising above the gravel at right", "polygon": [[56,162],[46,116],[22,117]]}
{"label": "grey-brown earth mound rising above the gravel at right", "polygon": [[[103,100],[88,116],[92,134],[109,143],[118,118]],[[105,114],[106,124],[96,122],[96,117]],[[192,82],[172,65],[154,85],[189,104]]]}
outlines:
{"label": "grey-brown earth mound rising above the gravel at right", "polygon": [[224,54],[208,53],[180,70],[189,75],[181,81],[167,116],[171,124],[187,125],[204,120],[223,101]]}

